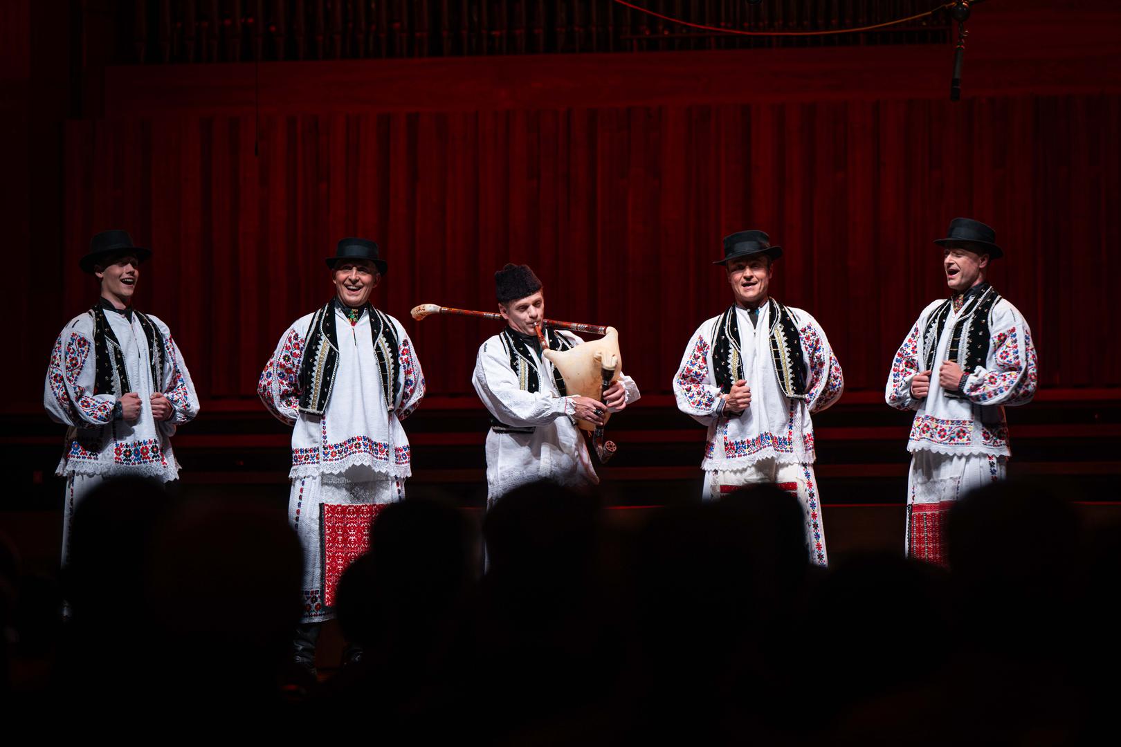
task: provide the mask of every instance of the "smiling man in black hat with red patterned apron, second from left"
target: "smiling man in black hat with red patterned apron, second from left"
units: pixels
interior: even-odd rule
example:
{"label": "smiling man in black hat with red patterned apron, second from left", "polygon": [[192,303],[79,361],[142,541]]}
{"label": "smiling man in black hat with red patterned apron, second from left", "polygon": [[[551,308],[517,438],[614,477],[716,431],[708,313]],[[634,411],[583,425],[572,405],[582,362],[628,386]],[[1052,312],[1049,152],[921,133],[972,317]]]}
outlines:
{"label": "smiling man in black hat with red patterned apron, second from left", "polygon": [[334,617],[339,577],[365,552],[378,511],[405,497],[411,452],[401,421],[425,392],[405,328],[370,304],[388,271],[378,244],[343,239],[326,264],[333,298],[285,330],[257,387],[294,427],[288,519],[304,545],[294,654],[308,669],[319,625]]}

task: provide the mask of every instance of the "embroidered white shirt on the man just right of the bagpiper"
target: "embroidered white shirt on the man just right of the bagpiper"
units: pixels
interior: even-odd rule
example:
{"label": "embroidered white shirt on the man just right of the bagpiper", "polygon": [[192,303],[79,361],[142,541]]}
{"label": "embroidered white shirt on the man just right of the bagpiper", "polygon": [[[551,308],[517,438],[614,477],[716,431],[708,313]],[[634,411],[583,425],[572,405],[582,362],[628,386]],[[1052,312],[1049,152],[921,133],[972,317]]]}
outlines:
{"label": "embroidered white shirt on the man just right of the bagpiper", "polygon": [[760,307],[754,326],[748,311],[736,308],[743,376],[751,387],[751,404],[741,414],[724,413],[713,373],[713,338],[722,315],[706,320],[693,334],[673,386],[677,409],[708,427],[702,469],[744,469],[760,459],[778,464],[814,461],[810,414],[837,401],[844,390],[844,375],[817,320],[802,309],[787,309],[797,325],[806,363],[805,400],[788,400],[779,387],[770,352],[769,304]]}

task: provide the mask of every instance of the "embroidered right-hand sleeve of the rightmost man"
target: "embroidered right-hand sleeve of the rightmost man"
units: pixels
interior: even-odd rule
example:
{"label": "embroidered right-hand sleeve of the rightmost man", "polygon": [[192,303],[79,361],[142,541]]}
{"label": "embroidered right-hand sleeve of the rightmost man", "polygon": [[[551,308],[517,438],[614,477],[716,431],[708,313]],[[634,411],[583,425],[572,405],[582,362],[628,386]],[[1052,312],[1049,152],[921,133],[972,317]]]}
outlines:
{"label": "embroidered right-hand sleeve of the rightmost man", "polygon": [[985,405],[1027,404],[1036,395],[1039,361],[1028,323],[1011,304],[993,309],[989,326],[989,357],[970,372],[962,393]]}

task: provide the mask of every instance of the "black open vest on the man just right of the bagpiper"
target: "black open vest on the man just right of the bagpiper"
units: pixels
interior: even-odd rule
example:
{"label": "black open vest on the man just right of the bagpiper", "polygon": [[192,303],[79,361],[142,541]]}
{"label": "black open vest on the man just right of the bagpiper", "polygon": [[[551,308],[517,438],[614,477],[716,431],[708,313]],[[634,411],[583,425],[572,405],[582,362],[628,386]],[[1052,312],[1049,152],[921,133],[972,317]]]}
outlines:
{"label": "black open vest on the man just right of the bagpiper", "polygon": [[[806,399],[806,362],[802,355],[798,326],[789,309],[773,298],[767,301],[770,308],[770,349],[775,364],[778,386],[789,400]],[[721,315],[713,330],[712,362],[716,384],[725,394],[732,385],[744,379],[743,355],[740,352],[740,326],[735,307],[731,306]]]}

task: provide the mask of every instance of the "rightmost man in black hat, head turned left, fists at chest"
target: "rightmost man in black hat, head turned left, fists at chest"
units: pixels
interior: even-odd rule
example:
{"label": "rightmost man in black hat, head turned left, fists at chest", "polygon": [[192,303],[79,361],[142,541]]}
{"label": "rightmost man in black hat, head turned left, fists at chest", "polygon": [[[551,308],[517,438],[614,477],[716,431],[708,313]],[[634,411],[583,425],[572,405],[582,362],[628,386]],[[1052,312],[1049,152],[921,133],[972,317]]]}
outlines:
{"label": "rightmost man in black hat, head turned left, fists at chest", "polygon": [[943,248],[949,298],[929,304],[891,363],[888,404],[915,410],[907,450],[907,554],[944,563],[943,522],[954,501],[1002,479],[1009,458],[1004,405],[1036,393],[1031,330],[985,281],[1003,255],[995,232],[954,218]]}

